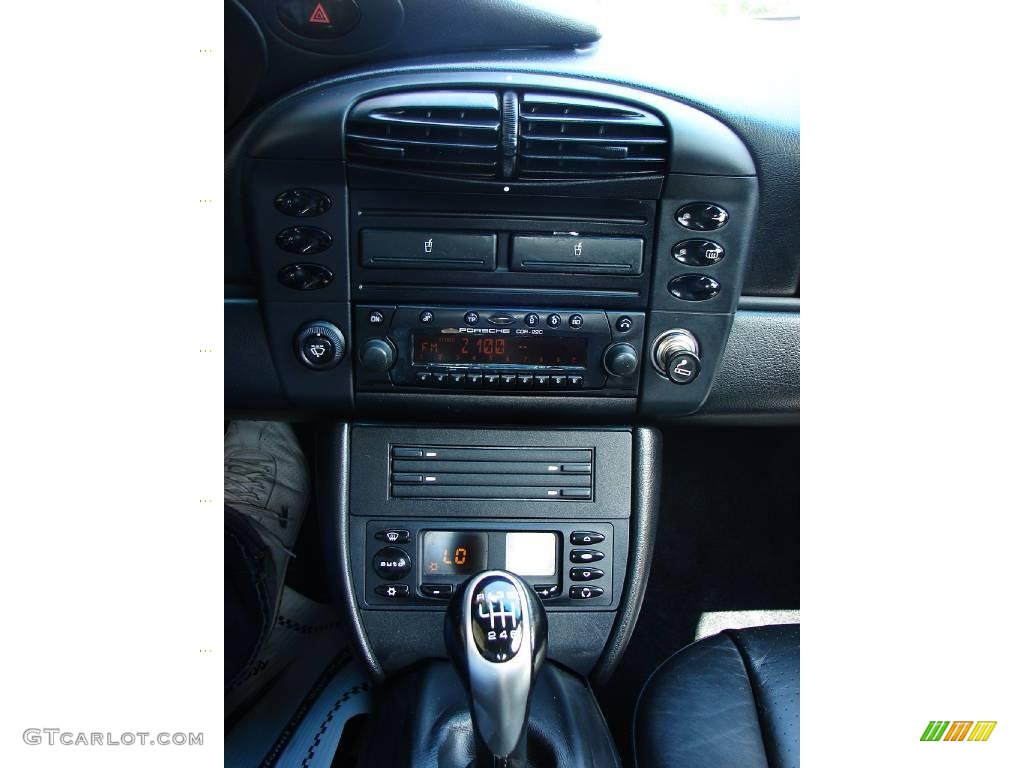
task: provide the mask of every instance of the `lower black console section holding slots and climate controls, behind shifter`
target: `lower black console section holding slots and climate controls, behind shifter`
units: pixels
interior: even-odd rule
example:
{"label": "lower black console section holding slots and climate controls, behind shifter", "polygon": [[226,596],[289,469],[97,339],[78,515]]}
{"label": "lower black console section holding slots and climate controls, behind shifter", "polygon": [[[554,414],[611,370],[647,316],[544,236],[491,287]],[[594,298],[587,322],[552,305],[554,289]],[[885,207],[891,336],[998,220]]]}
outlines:
{"label": "lower black console section holding slots and climate controls, behind shifter", "polygon": [[338,586],[380,669],[442,657],[452,594],[499,569],[520,575],[543,602],[548,657],[593,672],[620,609],[634,604],[631,542],[635,526],[652,524],[656,475],[634,479],[633,466],[652,435],[627,427],[344,430],[335,450],[348,458],[347,498],[337,499],[341,512],[326,532],[339,548],[346,543],[335,550],[348,563]]}

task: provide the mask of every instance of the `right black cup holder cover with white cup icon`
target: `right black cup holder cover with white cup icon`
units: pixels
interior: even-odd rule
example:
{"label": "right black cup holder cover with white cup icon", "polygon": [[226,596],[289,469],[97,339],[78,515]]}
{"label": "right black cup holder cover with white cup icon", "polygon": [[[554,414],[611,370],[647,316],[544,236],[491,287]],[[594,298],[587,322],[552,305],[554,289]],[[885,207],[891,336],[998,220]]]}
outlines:
{"label": "right black cup holder cover with white cup icon", "polygon": [[571,238],[517,234],[512,238],[511,269],[526,272],[640,274],[640,238]]}

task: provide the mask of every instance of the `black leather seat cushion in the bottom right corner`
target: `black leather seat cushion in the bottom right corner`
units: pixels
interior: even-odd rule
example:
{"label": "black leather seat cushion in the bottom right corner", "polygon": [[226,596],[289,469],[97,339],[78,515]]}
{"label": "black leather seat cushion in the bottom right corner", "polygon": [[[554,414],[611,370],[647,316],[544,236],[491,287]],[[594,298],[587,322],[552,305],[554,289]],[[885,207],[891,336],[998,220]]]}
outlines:
{"label": "black leather seat cushion in the bottom right corner", "polygon": [[647,680],[633,721],[637,768],[800,765],[800,627],[727,630]]}

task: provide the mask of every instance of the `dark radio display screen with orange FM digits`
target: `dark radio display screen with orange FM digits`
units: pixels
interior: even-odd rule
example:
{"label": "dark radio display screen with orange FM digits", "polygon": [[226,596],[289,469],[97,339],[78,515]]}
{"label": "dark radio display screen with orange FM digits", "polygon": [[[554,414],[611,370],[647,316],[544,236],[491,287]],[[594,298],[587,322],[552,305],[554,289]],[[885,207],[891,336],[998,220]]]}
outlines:
{"label": "dark radio display screen with orange FM digits", "polygon": [[587,337],[469,336],[443,331],[414,331],[413,362],[585,368]]}

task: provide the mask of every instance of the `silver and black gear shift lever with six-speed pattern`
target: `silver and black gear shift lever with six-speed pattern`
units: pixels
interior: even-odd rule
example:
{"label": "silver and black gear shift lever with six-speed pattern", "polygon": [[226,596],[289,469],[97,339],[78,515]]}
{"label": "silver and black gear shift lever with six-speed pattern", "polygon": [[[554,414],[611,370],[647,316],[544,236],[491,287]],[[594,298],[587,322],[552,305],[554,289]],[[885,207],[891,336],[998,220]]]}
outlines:
{"label": "silver and black gear shift lever with six-speed pattern", "polygon": [[469,693],[476,765],[526,766],[526,721],[548,648],[548,615],[514,573],[484,570],[456,591],[444,643]]}

